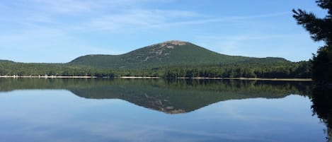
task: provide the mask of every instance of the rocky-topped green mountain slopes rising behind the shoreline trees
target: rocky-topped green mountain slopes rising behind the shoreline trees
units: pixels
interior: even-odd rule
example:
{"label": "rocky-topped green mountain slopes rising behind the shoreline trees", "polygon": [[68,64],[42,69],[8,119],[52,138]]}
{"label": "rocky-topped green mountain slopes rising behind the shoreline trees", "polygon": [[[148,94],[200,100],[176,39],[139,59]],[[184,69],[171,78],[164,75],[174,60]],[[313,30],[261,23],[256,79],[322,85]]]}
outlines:
{"label": "rocky-topped green mountain slopes rising behind the shoreline trees", "polygon": [[229,56],[212,52],[190,42],[172,40],[149,45],[120,55],[90,54],[70,61],[69,65],[101,69],[153,69],[166,66],[197,66],[233,63],[285,63],[282,58]]}

